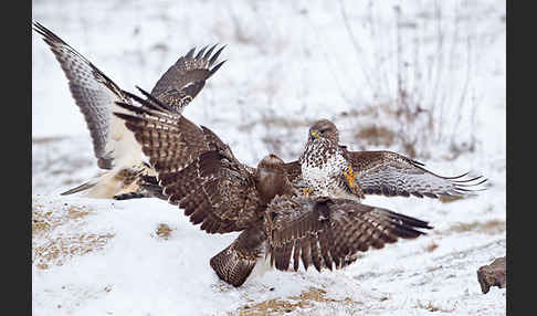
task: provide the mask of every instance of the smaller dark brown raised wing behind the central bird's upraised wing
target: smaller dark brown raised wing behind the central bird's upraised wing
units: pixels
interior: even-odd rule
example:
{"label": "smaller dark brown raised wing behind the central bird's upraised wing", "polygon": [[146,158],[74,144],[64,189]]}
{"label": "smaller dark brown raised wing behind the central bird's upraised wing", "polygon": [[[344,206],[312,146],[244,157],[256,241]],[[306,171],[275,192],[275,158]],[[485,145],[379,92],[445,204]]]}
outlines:
{"label": "smaller dark brown raised wing behind the central bird's upraised wing", "polygon": [[181,113],[203,88],[206,81],[225,62],[223,61],[214,65],[218,56],[225,46],[222,46],[212,55],[215,48],[217,45],[213,45],[207,50],[206,46],[196,56],[193,55],[194,48],[185,56],[179,57],[158,80],[151,91],[151,95],[171,106],[175,112]]}

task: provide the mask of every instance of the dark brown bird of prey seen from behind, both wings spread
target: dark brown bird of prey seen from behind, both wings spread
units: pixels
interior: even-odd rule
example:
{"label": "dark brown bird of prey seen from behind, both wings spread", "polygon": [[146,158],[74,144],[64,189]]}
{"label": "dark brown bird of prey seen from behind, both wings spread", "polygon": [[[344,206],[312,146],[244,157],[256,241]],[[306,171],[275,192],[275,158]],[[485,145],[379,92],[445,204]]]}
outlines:
{"label": "dark brown bird of prey seen from behind, both wings spread", "polygon": [[157,172],[168,202],[208,233],[240,231],[210,260],[217,275],[241,286],[263,262],[281,271],[313,265],[341,268],[369,247],[413,239],[429,223],[348,199],[308,197],[292,181],[285,162],[267,155],[257,166],[240,162],[213,131],[198,126],[149,93],[141,106],[117,104]]}

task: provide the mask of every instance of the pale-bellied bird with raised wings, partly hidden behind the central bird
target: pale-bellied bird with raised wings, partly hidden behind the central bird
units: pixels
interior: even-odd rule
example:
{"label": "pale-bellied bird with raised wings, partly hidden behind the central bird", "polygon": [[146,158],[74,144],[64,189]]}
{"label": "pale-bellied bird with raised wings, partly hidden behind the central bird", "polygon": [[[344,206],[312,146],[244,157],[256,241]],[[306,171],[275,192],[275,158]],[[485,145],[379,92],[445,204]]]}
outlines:
{"label": "pale-bellied bird with raised wings, partly hidden behind the central bird", "polygon": [[[133,134],[112,115],[123,110],[115,102],[131,103],[129,97],[52,31],[39,22],[33,22],[33,30],[43,36],[67,77],[71,94],[90,129],[97,166],[103,170],[96,178],[62,194],[84,191],[91,198],[159,197],[160,188],[150,182],[150,177],[148,181],[140,180],[144,176],[155,175],[155,171],[144,162],[144,155]],[[225,62],[215,64],[224,46],[213,54],[215,48],[207,50],[206,46],[196,55],[196,49],[191,49],[179,57],[158,80],[151,95],[168,104],[175,113],[181,113]]]}

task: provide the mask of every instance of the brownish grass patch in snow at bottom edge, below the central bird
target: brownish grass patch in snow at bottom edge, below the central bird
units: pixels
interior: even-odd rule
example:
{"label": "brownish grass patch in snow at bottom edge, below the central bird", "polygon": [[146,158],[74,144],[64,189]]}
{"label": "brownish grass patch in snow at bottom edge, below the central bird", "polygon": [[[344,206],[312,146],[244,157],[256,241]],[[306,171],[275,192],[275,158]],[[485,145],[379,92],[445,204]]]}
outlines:
{"label": "brownish grass patch in snow at bottom edge, below the central bird", "polygon": [[327,297],[325,289],[312,286],[307,291],[303,291],[298,296],[273,298],[251,305],[244,305],[235,313],[228,314],[240,316],[282,315],[285,313],[298,312],[301,308],[308,308],[319,304],[337,304],[352,308],[354,306],[361,305],[362,303],[354,301],[350,297],[345,297],[343,299]]}

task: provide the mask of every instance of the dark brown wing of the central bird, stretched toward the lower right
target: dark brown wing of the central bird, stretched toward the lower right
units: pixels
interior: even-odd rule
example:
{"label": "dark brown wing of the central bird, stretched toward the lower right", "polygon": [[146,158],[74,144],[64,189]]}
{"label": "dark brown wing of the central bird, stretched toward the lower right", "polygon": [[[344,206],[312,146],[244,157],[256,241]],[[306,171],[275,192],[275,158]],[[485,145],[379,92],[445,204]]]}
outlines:
{"label": "dark brown wing of the central bird, stretched toward the lower right", "polygon": [[286,271],[299,261],[340,268],[354,262],[358,251],[381,249],[399,238],[413,239],[431,229],[428,222],[344,199],[276,197],[266,210],[264,230],[271,263]]}

